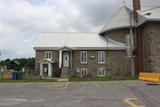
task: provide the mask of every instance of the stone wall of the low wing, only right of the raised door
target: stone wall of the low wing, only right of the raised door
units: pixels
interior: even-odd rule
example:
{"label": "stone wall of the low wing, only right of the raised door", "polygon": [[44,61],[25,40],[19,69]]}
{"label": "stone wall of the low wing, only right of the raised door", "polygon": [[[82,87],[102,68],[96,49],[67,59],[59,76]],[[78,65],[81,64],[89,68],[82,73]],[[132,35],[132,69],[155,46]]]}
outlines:
{"label": "stone wall of the low wing, only right of the raised door", "polygon": [[[88,51],[88,63],[80,63],[80,51],[73,52],[73,68],[79,70],[81,68],[87,68],[88,73],[93,76],[97,75],[99,68],[104,68],[107,75],[125,75],[126,71],[125,63],[125,51],[105,51],[105,63],[98,63],[98,51]],[[95,58],[92,58],[92,57]]]}

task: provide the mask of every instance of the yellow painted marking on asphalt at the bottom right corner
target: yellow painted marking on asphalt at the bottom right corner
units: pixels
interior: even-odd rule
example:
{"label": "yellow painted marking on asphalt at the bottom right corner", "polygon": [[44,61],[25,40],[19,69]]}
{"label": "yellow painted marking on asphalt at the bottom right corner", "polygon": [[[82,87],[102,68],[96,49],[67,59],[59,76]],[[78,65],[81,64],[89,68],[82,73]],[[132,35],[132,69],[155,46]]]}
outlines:
{"label": "yellow painted marking on asphalt at the bottom right corner", "polygon": [[129,107],[145,107],[144,105],[137,105],[133,101],[138,100],[137,98],[125,98],[123,101],[129,105]]}

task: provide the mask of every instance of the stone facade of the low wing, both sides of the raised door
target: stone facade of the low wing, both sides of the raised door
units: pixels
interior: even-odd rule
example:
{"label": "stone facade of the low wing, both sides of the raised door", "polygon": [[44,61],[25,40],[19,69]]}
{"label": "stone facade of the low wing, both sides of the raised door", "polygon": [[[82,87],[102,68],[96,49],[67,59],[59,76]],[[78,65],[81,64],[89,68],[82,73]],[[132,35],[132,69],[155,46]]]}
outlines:
{"label": "stone facade of the low wing, both sides of the raised door", "polygon": [[[97,75],[97,70],[99,68],[104,68],[106,70],[107,75],[125,75],[128,72],[126,71],[126,62],[125,62],[125,51],[105,51],[105,63],[99,64],[98,63],[98,51],[87,51],[88,59],[87,64],[81,64],[80,63],[80,51],[72,51],[72,65],[73,70],[77,71],[81,68],[87,68],[88,73],[92,76]],[[39,63],[38,61],[41,61],[44,59],[45,51],[36,51],[36,69],[39,73]],[[52,51],[52,60],[56,62],[56,66],[54,67],[54,70],[56,69],[57,72],[60,72],[58,68],[58,60],[59,60],[59,52],[58,51]]]}

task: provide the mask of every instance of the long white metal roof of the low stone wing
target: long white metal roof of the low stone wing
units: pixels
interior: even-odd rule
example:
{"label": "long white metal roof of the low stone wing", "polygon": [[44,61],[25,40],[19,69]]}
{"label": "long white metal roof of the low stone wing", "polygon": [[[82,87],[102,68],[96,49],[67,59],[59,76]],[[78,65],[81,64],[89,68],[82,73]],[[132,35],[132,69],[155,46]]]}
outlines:
{"label": "long white metal roof of the low stone wing", "polygon": [[42,33],[35,50],[125,50],[125,44],[96,33]]}

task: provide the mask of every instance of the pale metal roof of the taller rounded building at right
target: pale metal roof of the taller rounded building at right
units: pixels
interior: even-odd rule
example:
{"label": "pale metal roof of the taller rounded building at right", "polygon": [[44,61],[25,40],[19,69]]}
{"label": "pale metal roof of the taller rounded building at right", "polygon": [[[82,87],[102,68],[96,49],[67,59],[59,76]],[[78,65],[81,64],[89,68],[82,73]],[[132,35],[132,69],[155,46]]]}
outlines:
{"label": "pale metal roof of the taller rounded building at right", "polygon": [[[138,12],[138,23],[133,19],[133,10],[129,7],[123,6],[118,12],[111,18],[111,20],[101,29],[99,34],[106,31],[128,28],[130,25],[132,27],[140,26],[146,21],[160,21],[160,7],[155,7],[151,9],[145,9]],[[132,24],[131,24],[132,22]]]}

